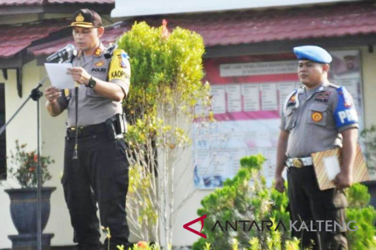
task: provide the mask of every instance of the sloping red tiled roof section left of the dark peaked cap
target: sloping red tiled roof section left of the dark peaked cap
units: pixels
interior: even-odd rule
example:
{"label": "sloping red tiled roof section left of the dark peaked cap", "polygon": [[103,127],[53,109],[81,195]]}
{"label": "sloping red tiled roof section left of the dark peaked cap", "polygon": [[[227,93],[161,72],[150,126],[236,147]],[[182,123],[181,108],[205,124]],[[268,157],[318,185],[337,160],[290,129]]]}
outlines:
{"label": "sloping red tiled roof section left of the dark peaked cap", "polygon": [[0,25],[0,58],[15,55],[33,41],[65,28],[67,23],[65,19],[53,19],[22,25]]}

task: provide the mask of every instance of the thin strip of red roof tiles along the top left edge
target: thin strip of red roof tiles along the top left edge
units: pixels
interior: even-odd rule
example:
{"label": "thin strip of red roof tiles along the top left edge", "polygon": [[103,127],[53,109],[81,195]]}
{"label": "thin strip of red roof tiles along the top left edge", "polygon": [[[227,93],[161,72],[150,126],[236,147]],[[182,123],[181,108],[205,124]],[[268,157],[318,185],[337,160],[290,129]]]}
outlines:
{"label": "thin strip of red roof tiles along the top left edge", "polygon": [[43,5],[53,3],[115,3],[115,0],[2,0],[2,5]]}

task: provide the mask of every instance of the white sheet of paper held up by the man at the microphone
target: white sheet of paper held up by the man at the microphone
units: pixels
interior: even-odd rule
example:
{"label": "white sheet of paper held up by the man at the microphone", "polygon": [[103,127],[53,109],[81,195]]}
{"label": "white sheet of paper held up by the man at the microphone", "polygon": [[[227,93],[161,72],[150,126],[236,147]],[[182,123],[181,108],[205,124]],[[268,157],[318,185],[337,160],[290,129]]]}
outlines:
{"label": "white sheet of paper held up by the man at the microphone", "polygon": [[71,63],[45,63],[44,66],[52,86],[59,89],[74,88],[73,77],[67,74],[68,68],[72,67]]}

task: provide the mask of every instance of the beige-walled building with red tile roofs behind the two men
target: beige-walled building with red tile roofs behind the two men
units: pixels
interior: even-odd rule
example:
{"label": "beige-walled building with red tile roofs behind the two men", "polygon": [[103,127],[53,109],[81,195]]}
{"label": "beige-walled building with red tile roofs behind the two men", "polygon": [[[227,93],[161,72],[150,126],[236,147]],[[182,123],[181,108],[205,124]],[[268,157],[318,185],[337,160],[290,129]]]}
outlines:
{"label": "beige-walled building with red tile roofs behind the two men", "polygon": [[[132,28],[135,21],[146,21],[149,25],[157,27],[162,24],[162,19],[167,19],[170,31],[179,26],[199,33],[206,46],[205,79],[213,86],[223,87],[221,89],[223,90],[223,100],[228,100],[230,96],[229,93],[225,94],[224,86],[226,84],[241,86],[255,84],[258,86],[257,88],[262,88],[263,84],[295,86],[298,80],[294,68],[294,72],[290,70],[278,75],[262,73],[257,75],[252,72],[239,73],[236,70],[228,70],[225,73],[230,76],[223,76],[221,75],[221,66],[246,65],[253,67],[258,62],[273,64],[293,61],[295,63],[292,53],[294,46],[308,44],[323,46],[336,53],[332,63],[332,69],[337,73],[335,80],[339,84],[352,86],[352,91],[358,96],[357,102],[361,107],[362,114],[361,126],[369,127],[376,123],[376,116],[373,114],[373,107],[376,106],[374,98],[376,91],[374,84],[374,79],[376,79],[374,70],[376,68],[376,53],[374,52],[376,5],[374,1],[346,1],[295,5],[284,8],[268,7],[169,15],[160,13],[111,19],[109,13],[114,7],[114,2],[114,0],[0,1],[0,32],[2,34],[0,39],[0,68],[2,69],[0,91],[6,91],[5,107],[3,109],[0,107],[0,117],[1,111],[6,110],[4,115],[9,118],[15,110],[14,107],[17,107],[22,99],[28,96],[28,91],[45,75],[43,66],[45,57],[68,43],[74,43],[70,29],[66,28],[70,22],[70,15],[79,8],[89,7],[97,10],[106,21],[106,30],[102,37],[102,42],[105,45],[115,42],[121,34]],[[28,19],[26,20],[24,16],[27,16]],[[8,18],[18,20],[17,24],[16,22],[9,23]],[[6,22],[2,22],[2,20]],[[260,69],[260,72],[261,70],[264,69]],[[286,69],[281,68],[280,70]],[[344,73],[346,70],[347,73]],[[4,84],[2,85],[2,83]],[[46,83],[45,86],[48,84]],[[275,94],[282,93],[279,86],[273,85]],[[244,98],[241,100],[244,104]],[[260,104],[260,106],[262,105],[263,103]],[[278,105],[280,104],[277,103],[276,106]],[[29,135],[32,133],[29,131],[30,127],[36,127],[34,106],[33,103],[27,105],[27,109],[7,129],[7,151],[13,148],[12,142],[20,138],[26,138],[24,142],[35,146],[36,135]],[[274,113],[274,115],[278,115],[277,111]],[[71,245],[70,236],[73,232],[62,199],[59,178],[57,178],[62,166],[64,117],[52,119],[45,112],[42,113],[42,116],[41,138],[46,144],[42,153],[54,156],[56,160],[54,167],[56,168],[53,170],[52,184],[59,187],[52,197],[52,214],[46,231],[55,233],[53,245]],[[267,152],[267,150],[263,152]],[[376,186],[372,183],[368,186],[371,191],[376,190]],[[375,192],[372,192],[371,203],[376,205]],[[196,208],[199,206],[198,201],[203,194],[205,191],[197,194],[196,200],[190,203],[189,208],[182,210],[183,216],[195,216]],[[0,199],[5,202],[0,205],[0,211],[8,211],[8,197],[2,195],[0,192]],[[0,228],[0,249],[9,248],[10,241],[7,235],[16,233],[8,216],[5,217],[3,221],[5,226]],[[175,243],[191,245],[196,238],[186,235],[186,232],[181,230],[183,229],[176,229]]]}

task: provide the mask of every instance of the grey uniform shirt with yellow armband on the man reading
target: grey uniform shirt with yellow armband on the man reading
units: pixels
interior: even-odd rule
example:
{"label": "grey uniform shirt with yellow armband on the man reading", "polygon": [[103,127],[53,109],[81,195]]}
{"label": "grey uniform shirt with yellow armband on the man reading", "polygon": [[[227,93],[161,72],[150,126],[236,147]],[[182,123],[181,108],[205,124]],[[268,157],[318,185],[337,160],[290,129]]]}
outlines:
{"label": "grey uniform shirt with yellow armband on the man reading", "polygon": [[[112,67],[112,60],[120,60],[116,55],[112,55],[110,58],[105,57],[106,48],[100,44],[94,55],[84,57],[78,55],[72,61],[73,67],[83,67],[91,76],[103,81],[109,81],[113,84],[119,85],[124,93],[127,93],[130,79],[130,65],[125,56],[121,57],[122,61],[114,62],[116,64],[122,64],[122,67],[116,67],[112,70],[123,70],[122,74],[116,74],[115,78],[108,80],[108,75],[111,73],[110,64]],[[68,61],[67,61],[68,62]],[[110,72],[109,72],[110,71]],[[112,73],[114,73],[112,72]],[[117,71],[119,72],[119,71]],[[116,77],[119,76],[119,77]],[[67,127],[74,127],[76,125],[76,98],[74,89],[62,91],[62,96],[58,98],[61,109],[68,110]],[[122,102],[115,102],[108,98],[102,97],[97,94],[93,88],[86,87],[83,84],[79,84],[78,88],[78,120],[77,125],[79,127],[85,127],[93,124],[99,124],[106,121],[108,118],[113,117],[115,114],[123,113]]]}

